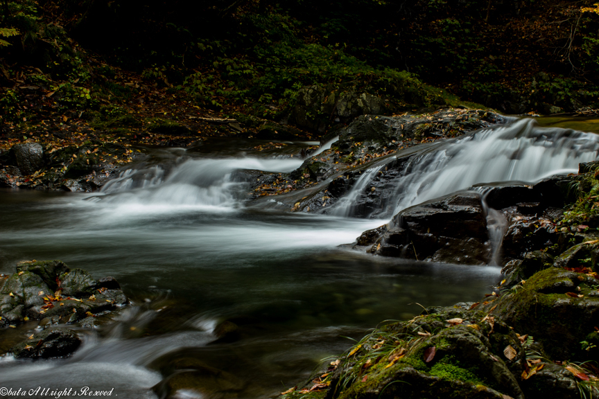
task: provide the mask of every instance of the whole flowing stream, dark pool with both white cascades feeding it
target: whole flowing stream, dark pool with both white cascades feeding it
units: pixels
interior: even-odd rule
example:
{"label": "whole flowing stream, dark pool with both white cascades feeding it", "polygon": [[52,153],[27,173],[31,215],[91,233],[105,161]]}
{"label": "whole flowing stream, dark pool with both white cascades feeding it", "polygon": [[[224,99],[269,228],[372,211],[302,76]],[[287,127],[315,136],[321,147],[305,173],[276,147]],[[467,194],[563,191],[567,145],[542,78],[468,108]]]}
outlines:
{"label": "whole flowing stream, dark pool with both white cascades feeding it", "polygon": [[[493,136],[512,145],[509,154],[496,148],[496,157],[485,159],[472,148],[458,149]],[[526,180],[597,157],[594,135],[563,134],[575,143],[546,136],[519,139],[489,130],[429,147],[422,159],[434,166],[463,158],[480,172],[532,157],[524,167],[534,169],[530,175],[497,175]],[[500,154],[508,161],[501,163]],[[409,188],[410,195],[398,190],[409,199],[398,197],[393,209],[454,190],[457,169],[442,174],[451,162],[436,169],[440,180],[417,174],[428,183]],[[164,365],[193,359],[223,371],[220,384],[234,389],[216,394],[214,382],[200,378],[205,389],[196,389],[203,393],[187,391],[181,398],[270,398],[307,378],[320,360],[342,353],[351,345],[347,337],[361,337],[385,319],[410,319],[421,306],[476,301],[500,278],[498,267],[415,263],[338,247],[387,219],[245,206],[236,170],[288,172],[301,163],[284,151],[265,156],[217,145],[212,151],[155,150],[153,159],[123,171],[101,193],[0,191],[0,272],[14,272],[19,260],[61,259],[96,278],[114,276],[132,300],[98,320],[105,322],[99,328],[80,330],[83,346],[68,359],[0,357],[0,387],[114,388],[123,398],[156,398],[151,387],[172,373]],[[469,177],[455,190],[478,180]],[[443,188],[432,190],[437,185]],[[239,326],[238,339],[216,342],[214,329],[225,320]],[[0,330],[0,351],[36,325]]]}

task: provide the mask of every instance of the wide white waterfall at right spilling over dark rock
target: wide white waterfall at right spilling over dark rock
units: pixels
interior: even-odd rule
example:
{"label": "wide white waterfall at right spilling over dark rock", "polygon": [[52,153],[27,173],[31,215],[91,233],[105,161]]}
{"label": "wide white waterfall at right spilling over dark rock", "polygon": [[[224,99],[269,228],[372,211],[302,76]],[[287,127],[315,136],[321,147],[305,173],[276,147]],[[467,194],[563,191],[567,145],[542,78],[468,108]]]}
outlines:
{"label": "wide white waterfall at right spilling over dark rock", "polygon": [[[382,203],[381,212],[370,216],[390,218],[409,206],[475,184],[535,182],[551,175],[577,172],[578,163],[593,161],[598,154],[596,134],[539,127],[532,119],[480,130],[411,157],[392,181],[394,192]],[[370,181],[361,178],[359,183],[347,193],[354,201],[338,202],[336,214],[351,215],[355,199],[366,195],[364,189]]]}

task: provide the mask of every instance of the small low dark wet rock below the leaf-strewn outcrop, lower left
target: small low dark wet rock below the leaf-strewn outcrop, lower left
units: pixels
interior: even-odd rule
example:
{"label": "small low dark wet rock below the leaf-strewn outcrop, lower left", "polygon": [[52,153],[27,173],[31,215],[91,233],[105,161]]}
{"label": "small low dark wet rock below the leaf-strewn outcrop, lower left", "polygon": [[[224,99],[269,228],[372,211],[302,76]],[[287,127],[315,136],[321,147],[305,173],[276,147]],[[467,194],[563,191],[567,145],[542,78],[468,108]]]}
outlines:
{"label": "small low dark wet rock below the leaf-strewn outcrop, lower left", "polygon": [[43,358],[65,357],[73,353],[80,346],[81,340],[73,330],[67,328],[53,328],[33,335],[21,344],[17,344],[10,351],[15,357]]}

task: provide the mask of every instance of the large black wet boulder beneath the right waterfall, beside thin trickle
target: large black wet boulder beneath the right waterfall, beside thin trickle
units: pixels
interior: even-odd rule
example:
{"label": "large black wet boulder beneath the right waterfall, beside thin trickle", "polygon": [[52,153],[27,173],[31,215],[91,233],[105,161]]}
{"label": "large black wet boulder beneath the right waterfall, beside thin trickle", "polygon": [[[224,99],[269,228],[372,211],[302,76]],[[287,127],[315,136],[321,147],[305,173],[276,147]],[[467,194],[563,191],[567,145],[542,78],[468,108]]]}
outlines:
{"label": "large black wet boulder beneath the right waterfall, beside thin trickle", "polygon": [[[367,232],[367,236],[372,233]],[[363,235],[364,236],[364,235]],[[358,242],[367,242],[365,237]],[[490,256],[487,219],[478,193],[449,195],[395,215],[370,252],[465,265]]]}

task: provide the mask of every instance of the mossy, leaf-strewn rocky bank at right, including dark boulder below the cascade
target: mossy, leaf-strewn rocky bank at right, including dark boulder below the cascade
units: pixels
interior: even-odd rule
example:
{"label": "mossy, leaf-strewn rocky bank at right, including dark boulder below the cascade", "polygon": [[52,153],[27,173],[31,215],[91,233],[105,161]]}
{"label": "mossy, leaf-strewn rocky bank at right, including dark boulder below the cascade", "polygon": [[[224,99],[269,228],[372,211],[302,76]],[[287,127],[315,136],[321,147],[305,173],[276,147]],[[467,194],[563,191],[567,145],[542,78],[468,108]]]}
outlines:
{"label": "mossy, leaf-strewn rocky bank at right, including dark boulder below the cascade", "polygon": [[[281,397],[598,398],[598,166],[487,191],[507,220],[496,289],[477,303],[377,328]],[[433,200],[356,245],[383,256],[486,263],[481,204],[478,193]],[[457,249],[439,247],[445,241]]]}

